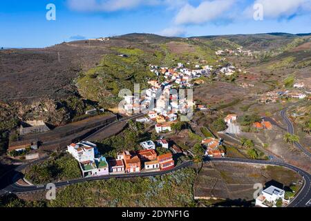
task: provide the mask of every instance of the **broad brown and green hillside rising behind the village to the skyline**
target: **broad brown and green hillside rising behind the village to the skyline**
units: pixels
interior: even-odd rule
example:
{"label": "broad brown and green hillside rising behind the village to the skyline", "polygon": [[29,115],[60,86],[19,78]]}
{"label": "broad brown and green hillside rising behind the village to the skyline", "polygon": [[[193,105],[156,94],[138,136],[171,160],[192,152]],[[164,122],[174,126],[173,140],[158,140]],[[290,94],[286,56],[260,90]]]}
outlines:
{"label": "broad brown and green hillside rising behind the village to the skyline", "polygon": [[[239,46],[258,50],[258,55],[217,62],[216,50]],[[116,106],[121,88],[131,89],[135,82],[145,88],[148,79],[156,79],[149,64],[172,67],[189,62],[186,67],[194,68],[202,60],[214,66],[231,62],[252,68],[267,79],[279,78],[279,73],[284,78],[294,73],[298,79],[308,79],[310,36],[272,33],[177,38],[129,34],[105,41],[0,50],[0,131],[26,119],[65,124],[87,108]]]}

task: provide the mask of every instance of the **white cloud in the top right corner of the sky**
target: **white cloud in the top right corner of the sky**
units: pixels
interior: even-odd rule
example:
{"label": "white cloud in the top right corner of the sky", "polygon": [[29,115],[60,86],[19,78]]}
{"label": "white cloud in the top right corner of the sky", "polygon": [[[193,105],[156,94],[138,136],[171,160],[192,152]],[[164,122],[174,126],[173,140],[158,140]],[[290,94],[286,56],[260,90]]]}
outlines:
{"label": "white cloud in the top right corner of the sky", "polygon": [[[261,4],[264,18],[269,19],[290,17],[305,10],[311,10],[311,0],[256,0],[254,4]],[[253,5],[244,11],[247,17],[252,17],[253,13]]]}

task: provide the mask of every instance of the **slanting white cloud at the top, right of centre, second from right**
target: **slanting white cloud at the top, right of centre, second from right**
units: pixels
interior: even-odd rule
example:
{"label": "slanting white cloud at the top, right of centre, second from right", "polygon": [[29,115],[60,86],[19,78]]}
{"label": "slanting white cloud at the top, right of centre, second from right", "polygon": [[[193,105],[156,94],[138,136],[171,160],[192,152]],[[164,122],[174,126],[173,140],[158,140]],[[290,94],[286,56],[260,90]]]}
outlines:
{"label": "slanting white cloud at the top, right of centre, second from right", "polygon": [[181,8],[178,15],[176,15],[175,23],[200,24],[223,17],[224,13],[227,12],[234,3],[235,0],[214,0],[203,1],[198,7],[187,4]]}

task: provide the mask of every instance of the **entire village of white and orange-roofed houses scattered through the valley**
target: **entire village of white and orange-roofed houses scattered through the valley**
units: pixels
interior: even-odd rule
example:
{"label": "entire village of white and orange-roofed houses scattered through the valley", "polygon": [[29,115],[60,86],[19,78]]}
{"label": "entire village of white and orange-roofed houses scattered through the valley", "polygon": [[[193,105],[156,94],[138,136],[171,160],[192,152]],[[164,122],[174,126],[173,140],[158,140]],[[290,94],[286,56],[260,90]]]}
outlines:
{"label": "entire village of white and orange-roofed houses scattered through the valley", "polygon": [[[109,39],[102,39],[101,41],[109,41]],[[216,52],[216,55],[228,54],[253,56],[252,51],[245,51],[243,48]],[[118,54],[117,56],[129,57],[125,54]],[[213,158],[224,158],[223,160],[234,158],[236,155],[232,156],[233,152],[229,153],[232,149],[237,150],[238,156],[252,160],[274,161],[274,156],[268,155],[265,149],[258,148],[254,138],[252,138],[252,134],[273,132],[276,128],[273,117],[267,117],[261,113],[247,115],[248,113],[241,113],[237,110],[223,112],[212,107],[208,101],[194,100],[191,94],[193,88],[204,84],[205,80],[228,81],[228,79],[238,77],[238,75],[245,77],[248,75],[246,70],[227,62],[221,62],[218,66],[210,66],[207,65],[207,61],[200,61],[200,64],[189,62],[186,65],[178,63],[175,67],[149,64],[148,68],[155,75],[154,78],[147,80],[148,86],[142,91],[134,91],[132,95],[122,97],[124,100],[123,103],[120,103],[121,106],[119,106],[117,113],[125,119],[133,117],[133,121],[140,126],[143,125],[144,133],[148,134],[147,138],[144,136],[136,137],[135,142],[133,141],[135,143],[134,148],[126,144],[122,148],[114,148],[114,153],[107,152],[100,147],[103,140],[86,141],[87,139],[80,139],[80,137],[70,140],[72,144],[68,142],[65,145],[66,153],[69,153],[78,162],[79,166],[75,167],[81,172],[80,176],[100,179],[102,176],[126,177],[126,175],[130,176],[131,174],[140,176],[140,174],[146,173],[148,175],[169,173],[180,168],[180,164],[195,159],[194,146],[200,146],[203,152],[200,158],[203,161],[213,160]],[[234,84],[236,83],[234,82]],[[255,84],[253,81],[238,81],[237,83],[239,87],[245,90],[254,88]],[[254,101],[260,105],[267,105],[280,101],[285,102],[287,99],[306,99],[310,95],[308,90],[308,85],[305,86],[303,81],[296,81],[295,79],[290,88],[283,86],[270,89],[265,93],[258,93],[255,95],[256,100],[254,99]],[[214,116],[219,117],[218,119],[224,122],[225,128],[217,130],[204,125],[207,133],[200,133],[203,128],[202,124],[192,122],[192,117],[196,113],[206,117],[213,115],[213,112]],[[101,115],[104,117],[105,113],[105,108],[90,108],[85,111],[86,119],[91,119],[96,115],[98,115],[97,117]],[[247,119],[247,117],[252,117],[252,119]],[[115,120],[117,118],[113,116],[106,123],[110,124]],[[214,118],[214,121],[216,120]],[[187,124],[187,128],[183,128],[184,131],[183,129],[176,129],[176,125],[182,125],[184,122]],[[106,123],[101,124],[101,126],[106,125]],[[126,125],[129,130],[132,129],[127,120]],[[83,126],[81,127],[83,128]],[[75,131],[77,128],[73,129],[73,133]],[[184,132],[184,137],[181,136],[180,140],[191,140],[191,135],[194,136],[194,138],[192,137],[193,140],[187,144],[185,142],[183,146],[182,142],[178,142],[180,137],[176,135],[180,131]],[[21,157],[24,160],[36,160],[40,158],[38,153],[40,140],[34,134],[53,134],[55,130],[48,128],[44,121],[39,120],[23,122],[17,132],[21,137],[33,135],[35,138],[32,139],[32,142],[19,139],[16,142],[10,142],[8,155],[10,157]],[[239,144],[236,144],[236,141]],[[229,151],[227,147],[229,147]],[[275,207],[279,204],[288,204],[289,200],[285,199],[284,193],[283,189],[270,186],[261,191],[261,195],[256,198],[256,206]]]}

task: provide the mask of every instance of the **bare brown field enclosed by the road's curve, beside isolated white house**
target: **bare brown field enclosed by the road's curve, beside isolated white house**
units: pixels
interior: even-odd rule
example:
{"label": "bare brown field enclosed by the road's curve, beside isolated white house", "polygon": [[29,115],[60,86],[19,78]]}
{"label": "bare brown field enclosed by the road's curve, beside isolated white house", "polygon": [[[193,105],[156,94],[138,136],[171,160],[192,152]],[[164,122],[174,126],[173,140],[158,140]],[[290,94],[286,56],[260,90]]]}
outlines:
{"label": "bare brown field enclosed by the road's curve, beside isolated white house", "polygon": [[205,165],[194,185],[195,198],[209,200],[254,200],[254,184],[285,188],[301,177],[280,166],[256,166],[226,162]]}

